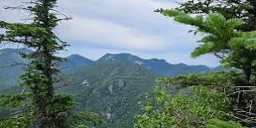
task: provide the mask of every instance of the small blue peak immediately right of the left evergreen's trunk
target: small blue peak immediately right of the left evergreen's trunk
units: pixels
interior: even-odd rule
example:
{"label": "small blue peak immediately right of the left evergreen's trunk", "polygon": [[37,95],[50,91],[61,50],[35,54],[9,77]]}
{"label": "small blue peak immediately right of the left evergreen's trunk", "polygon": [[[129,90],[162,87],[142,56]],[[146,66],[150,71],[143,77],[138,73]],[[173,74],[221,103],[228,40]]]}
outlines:
{"label": "small blue peak immediately right of the left evergreen's trunk", "polygon": [[62,71],[72,71],[75,68],[78,67],[84,67],[93,64],[94,61],[89,60],[88,58],[85,58],[80,55],[71,55],[67,56],[67,61],[64,61],[61,64],[61,70]]}

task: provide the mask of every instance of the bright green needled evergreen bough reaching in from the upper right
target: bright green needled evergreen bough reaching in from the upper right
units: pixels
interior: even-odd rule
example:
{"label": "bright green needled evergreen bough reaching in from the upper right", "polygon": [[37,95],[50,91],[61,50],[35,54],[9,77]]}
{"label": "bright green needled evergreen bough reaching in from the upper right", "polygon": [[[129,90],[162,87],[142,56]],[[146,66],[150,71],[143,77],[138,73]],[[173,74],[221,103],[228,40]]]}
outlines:
{"label": "bright green needled evergreen bough reaching in from the upper right", "polygon": [[241,69],[247,80],[251,80],[255,71],[253,61],[256,60],[255,32],[237,29],[243,24],[242,19],[227,19],[219,13],[211,13],[207,17],[192,17],[172,9],[159,11],[163,15],[174,17],[179,23],[194,26],[195,33],[205,34],[199,40],[200,45],[192,52],[193,57],[213,54],[219,57],[224,65]]}

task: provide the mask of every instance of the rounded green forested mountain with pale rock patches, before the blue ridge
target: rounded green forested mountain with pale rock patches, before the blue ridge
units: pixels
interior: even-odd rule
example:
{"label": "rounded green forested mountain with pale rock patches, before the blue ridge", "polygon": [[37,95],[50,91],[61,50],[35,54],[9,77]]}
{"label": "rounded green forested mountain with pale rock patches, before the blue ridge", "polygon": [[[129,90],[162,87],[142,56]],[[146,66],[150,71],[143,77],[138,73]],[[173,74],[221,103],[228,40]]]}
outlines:
{"label": "rounded green forested mountain with pale rock patches, before the blue ridge", "polygon": [[141,112],[138,102],[152,91],[157,77],[152,70],[133,63],[96,62],[66,73],[69,86],[58,92],[74,94],[76,109],[97,112],[108,121],[106,128],[130,128],[134,116]]}

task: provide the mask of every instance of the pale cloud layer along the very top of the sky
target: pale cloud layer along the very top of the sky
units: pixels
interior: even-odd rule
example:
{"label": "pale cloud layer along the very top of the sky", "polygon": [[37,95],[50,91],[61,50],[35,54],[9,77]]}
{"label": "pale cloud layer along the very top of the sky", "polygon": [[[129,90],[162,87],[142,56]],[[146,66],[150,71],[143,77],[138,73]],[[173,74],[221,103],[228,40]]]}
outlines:
{"label": "pale cloud layer along the very top of the sky", "polygon": [[76,0],[76,2],[60,1],[59,9],[70,14],[74,19],[76,17],[103,19],[151,32],[158,30],[158,26],[168,24],[168,20],[154,10],[174,6],[161,0]]}

